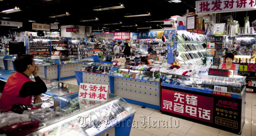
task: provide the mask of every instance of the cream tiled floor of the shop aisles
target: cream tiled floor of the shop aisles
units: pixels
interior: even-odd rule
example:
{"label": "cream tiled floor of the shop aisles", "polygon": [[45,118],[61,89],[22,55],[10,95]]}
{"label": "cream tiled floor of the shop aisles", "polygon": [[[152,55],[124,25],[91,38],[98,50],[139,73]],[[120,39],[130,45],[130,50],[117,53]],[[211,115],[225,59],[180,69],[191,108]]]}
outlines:
{"label": "cream tiled floor of the shop aisles", "polygon": [[[61,80],[64,83],[69,83],[77,85],[76,78]],[[168,136],[177,136],[177,135],[238,135],[224,130],[220,130],[214,127],[205,126],[195,122],[183,120],[177,117],[172,117],[168,115],[161,114],[159,110],[154,110],[152,108],[141,108],[139,105],[130,103],[131,106],[137,111],[134,117],[134,120],[138,123],[133,125],[130,135],[168,135]],[[141,117],[140,117],[141,116]],[[146,121],[151,118],[150,122],[144,124],[144,117]],[[175,120],[179,120],[179,127],[175,128]],[[155,121],[155,122],[153,122]],[[167,122],[168,126],[172,122],[172,128],[163,128],[162,122]],[[160,124],[160,125],[159,125]],[[150,127],[152,126],[152,127]],[[165,125],[166,126],[166,125]],[[241,135],[246,136],[256,136],[256,93],[246,93],[246,104],[245,104],[245,125]]]}

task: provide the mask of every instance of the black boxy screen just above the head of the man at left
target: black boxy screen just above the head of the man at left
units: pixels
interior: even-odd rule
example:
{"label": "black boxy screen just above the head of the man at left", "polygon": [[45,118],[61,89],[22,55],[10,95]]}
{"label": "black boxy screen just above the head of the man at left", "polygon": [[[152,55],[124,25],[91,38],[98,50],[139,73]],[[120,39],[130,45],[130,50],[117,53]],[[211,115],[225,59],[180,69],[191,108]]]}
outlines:
{"label": "black boxy screen just above the head of the man at left", "polygon": [[24,55],[26,54],[26,47],[24,42],[9,42],[9,55]]}

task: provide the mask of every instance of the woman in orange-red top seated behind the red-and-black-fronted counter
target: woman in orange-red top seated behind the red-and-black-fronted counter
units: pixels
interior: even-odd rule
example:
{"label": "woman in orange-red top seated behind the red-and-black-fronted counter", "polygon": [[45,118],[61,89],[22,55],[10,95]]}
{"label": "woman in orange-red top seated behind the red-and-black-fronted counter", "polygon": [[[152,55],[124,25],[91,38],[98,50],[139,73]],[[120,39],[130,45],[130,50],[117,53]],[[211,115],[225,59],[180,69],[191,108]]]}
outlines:
{"label": "woman in orange-red top seated behind the red-and-black-fronted counter", "polygon": [[226,57],[225,57],[225,61],[226,63],[223,63],[219,66],[219,69],[228,69],[228,70],[233,70],[234,71],[234,75],[238,75],[238,69],[239,66],[236,64],[233,64],[234,60],[234,55],[233,53],[227,53]]}

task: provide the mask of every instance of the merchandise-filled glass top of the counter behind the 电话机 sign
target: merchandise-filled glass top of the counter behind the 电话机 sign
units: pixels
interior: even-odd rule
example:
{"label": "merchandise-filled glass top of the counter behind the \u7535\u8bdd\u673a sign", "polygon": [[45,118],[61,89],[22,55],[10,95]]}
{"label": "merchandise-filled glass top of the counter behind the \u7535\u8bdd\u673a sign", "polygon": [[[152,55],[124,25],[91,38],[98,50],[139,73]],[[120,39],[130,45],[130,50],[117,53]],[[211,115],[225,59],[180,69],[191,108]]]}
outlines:
{"label": "merchandise-filled glass top of the counter behind the \u7535\u8bdd\u673a sign", "polygon": [[112,66],[113,66],[112,64],[107,64],[107,63],[89,62],[89,63],[79,64],[76,71],[109,74]]}

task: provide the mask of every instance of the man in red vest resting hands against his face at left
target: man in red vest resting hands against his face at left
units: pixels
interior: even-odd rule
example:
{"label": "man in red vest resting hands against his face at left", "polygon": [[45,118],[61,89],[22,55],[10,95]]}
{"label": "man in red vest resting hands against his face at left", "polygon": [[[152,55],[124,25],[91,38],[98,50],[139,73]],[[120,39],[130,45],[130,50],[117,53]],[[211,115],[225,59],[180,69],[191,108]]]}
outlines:
{"label": "man in red vest resting hands against his face at left", "polygon": [[[0,99],[1,110],[11,110],[14,104],[31,105],[32,96],[34,103],[41,102],[40,94],[47,91],[46,84],[37,75],[39,66],[35,65],[31,55],[21,55],[14,61],[15,73],[11,74],[4,87]],[[35,82],[29,76],[33,73]]]}

